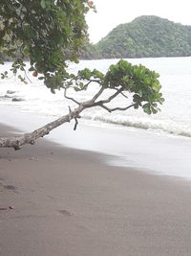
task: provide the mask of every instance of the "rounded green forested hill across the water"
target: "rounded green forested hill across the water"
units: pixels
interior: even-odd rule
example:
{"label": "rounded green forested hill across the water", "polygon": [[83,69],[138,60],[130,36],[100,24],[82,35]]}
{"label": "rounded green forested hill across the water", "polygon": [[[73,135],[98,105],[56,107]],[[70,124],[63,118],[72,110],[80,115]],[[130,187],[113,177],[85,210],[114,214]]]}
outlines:
{"label": "rounded green forested hill across the water", "polygon": [[94,45],[94,49],[94,58],[191,56],[191,26],[158,16],[140,16],[118,25]]}

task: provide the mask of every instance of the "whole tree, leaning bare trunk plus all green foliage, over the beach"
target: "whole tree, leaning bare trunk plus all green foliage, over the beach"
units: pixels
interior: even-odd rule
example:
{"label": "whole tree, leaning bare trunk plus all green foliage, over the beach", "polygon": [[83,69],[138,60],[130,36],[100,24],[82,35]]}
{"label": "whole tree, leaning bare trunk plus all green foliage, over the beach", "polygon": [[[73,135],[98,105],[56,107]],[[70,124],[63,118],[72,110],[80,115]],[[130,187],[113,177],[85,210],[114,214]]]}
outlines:
{"label": "whole tree, leaning bare trunk plus all green foliage, over the beach", "polygon": [[[147,114],[159,111],[158,105],[164,101],[159,92],[159,74],[142,65],[134,66],[121,59],[116,65],[111,65],[106,74],[87,68],[78,71],[77,75],[67,72],[66,59],[77,61],[78,50],[87,37],[84,15],[89,9],[94,9],[92,1],[74,2],[3,0],[0,11],[0,48],[4,54],[15,58],[11,72],[17,75],[18,70],[23,71],[24,75],[19,74],[18,78],[27,83],[24,59],[28,56],[33,76],[43,80],[52,92],[63,88],[65,98],[73,101],[76,108],[73,110],[69,107],[69,113],[31,133],[0,138],[0,148],[19,150],[25,144],[33,145],[39,137],[44,137],[53,128],[73,119],[76,129],[80,113],[86,108],[99,106],[110,113],[125,111],[130,107],[142,107]],[[1,73],[2,79],[7,77],[7,71]],[[98,84],[98,90],[89,101],[77,102],[68,96],[69,88],[77,93],[87,90],[93,82]],[[104,96],[105,90],[110,90],[107,97]],[[128,104],[117,104],[111,108],[108,104],[118,96],[125,97]]]}

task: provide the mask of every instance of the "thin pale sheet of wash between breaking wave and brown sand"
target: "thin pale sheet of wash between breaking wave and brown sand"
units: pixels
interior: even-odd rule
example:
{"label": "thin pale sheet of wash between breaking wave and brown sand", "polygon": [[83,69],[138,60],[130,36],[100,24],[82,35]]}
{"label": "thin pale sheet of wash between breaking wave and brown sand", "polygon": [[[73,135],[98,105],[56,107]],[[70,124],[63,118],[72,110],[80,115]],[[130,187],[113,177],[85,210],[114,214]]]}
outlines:
{"label": "thin pale sheet of wash between breaking wave and brown sand", "polygon": [[[46,117],[13,106],[1,106],[0,120],[24,132],[46,125],[55,117]],[[10,118],[11,117],[11,118]],[[66,123],[45,139],[62,147],[92,151],[104,155],[110,166],[131,167],[142,172],[191,180],[191,140],[153,134],[149,130],[99,128],[80,122]]]}

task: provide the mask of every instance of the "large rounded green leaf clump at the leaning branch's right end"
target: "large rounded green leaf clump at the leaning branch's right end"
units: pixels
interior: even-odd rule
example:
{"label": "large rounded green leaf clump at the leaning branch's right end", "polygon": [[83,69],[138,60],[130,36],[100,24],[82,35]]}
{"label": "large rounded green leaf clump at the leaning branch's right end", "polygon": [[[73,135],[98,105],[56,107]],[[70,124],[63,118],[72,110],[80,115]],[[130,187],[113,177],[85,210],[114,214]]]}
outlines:
{"label": "large rounded green leaf clump at the leaning branch's right end", "polygon": [[164,99],[159,90],[159,74],[150,71],[142,65],[133,66],[131,63],[120,60],[117,65],[112,65],[106,74],[104,86],[117,88],[122,86],[123,91],[134,93],[134,107],[142,106],[147,114],[157,113],[158,103],[162,104]]}

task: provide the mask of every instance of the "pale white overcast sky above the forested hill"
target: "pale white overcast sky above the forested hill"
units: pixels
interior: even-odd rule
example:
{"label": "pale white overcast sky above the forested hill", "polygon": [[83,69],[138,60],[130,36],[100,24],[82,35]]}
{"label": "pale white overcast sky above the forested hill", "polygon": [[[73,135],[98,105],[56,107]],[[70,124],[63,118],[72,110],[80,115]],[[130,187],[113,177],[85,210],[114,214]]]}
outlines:
{"label": "pale white overcast sky above the forested hill", "polygon": [[96,43],[117,25],[128,23],[140,15],[157,15],[182,25],[191,25],[191,0],[94,0],[96,13],[86,20],[90,41]]}

